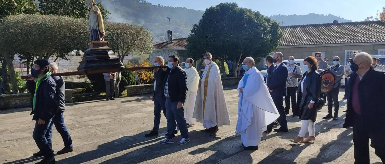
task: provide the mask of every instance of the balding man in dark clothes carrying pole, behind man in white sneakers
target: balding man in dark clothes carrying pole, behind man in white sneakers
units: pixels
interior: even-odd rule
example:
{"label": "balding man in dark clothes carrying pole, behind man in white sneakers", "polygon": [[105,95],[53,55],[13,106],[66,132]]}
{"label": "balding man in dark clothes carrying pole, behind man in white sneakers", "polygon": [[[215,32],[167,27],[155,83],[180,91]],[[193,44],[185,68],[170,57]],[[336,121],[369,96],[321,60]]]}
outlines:
{"label": "balding man in dark clothes carrying pole, behind man in white sneakers", "polygon": [[[157,56],[154,58],[155,66],[163,66],[163,57]],[[162,69],[154,69],[154,95],[151,100],[154,102],[154,127],[152,131],[145,134],[146,137],[158,136],[159,124],[161,123],[161,111],[163,110],[164,116],[166,115],[166,97],[164,97],[163,76],[166,74]]]}

